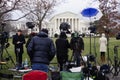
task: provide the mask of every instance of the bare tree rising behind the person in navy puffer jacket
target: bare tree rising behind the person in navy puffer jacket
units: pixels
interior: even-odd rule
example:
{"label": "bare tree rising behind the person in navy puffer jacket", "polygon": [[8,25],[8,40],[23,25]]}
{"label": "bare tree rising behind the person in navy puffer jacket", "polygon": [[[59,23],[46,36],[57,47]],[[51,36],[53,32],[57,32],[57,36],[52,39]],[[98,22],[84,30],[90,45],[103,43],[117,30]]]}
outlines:
{"label": "bare tree rising behind the person in navy puffer jacket", "polygon": [[42,23],[52,12],[53,8],[61,0],[24,0],[24,11],[31,12],[27,19],[34,22],[38,27],[39,31],[42,28]]}

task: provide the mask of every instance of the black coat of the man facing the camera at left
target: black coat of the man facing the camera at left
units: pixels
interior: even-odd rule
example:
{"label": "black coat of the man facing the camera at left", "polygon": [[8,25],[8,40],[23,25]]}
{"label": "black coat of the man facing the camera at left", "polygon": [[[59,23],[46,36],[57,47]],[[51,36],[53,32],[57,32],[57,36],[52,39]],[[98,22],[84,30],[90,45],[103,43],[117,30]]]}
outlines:
{"label": "black coat of the man facing the camera at left", "polygon": [[[18,41],[21,42],[21,43],[17,44]],[[25,44],[24,35],[20,35],[20,36],[18,36],[17,34],[14,35],[12,43],[14,44],[15,50],[17,48],[20,48],[20,53],[23,53],[23,44]]]}

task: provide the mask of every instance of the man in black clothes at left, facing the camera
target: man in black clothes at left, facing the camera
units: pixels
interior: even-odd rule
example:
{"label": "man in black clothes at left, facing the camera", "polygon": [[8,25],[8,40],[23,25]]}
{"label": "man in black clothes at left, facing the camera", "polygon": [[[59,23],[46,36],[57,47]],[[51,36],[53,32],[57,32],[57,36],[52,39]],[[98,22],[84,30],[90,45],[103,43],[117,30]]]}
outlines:
{"label": "man in black clothes at left, facing the camera", "polygon": [[18,30],[17,34],[13,36],[12,43],[14,44],[17,67],[21,67],[22,66],[23,45],[25,44],[25,37],[22,34],[21,30]]}

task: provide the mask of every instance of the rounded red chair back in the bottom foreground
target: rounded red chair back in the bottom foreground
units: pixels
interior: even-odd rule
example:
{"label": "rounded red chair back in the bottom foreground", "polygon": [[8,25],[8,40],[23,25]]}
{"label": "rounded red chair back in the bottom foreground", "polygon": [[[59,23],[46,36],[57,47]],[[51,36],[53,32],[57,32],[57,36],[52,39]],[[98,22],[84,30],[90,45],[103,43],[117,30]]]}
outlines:
{"label": "rounded red chair back in the bottom foreground", "polygon": [[24,74],[22,80],[47,80],[47,73],[40,70],[33,70]]}

